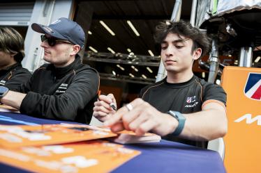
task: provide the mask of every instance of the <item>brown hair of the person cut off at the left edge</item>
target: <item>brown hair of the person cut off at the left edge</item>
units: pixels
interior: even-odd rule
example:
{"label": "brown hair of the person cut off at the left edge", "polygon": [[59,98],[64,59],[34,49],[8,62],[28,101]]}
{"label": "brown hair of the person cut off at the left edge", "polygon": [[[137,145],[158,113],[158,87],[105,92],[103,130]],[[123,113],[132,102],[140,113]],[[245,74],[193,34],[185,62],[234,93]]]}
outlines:
{"label": "brown hair of the person cut off at the left edge", "polygon": [[0,51],[16,53],[15,61],[21,63],[24,58],[24,38],[14,28],[0,27]]}

